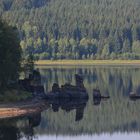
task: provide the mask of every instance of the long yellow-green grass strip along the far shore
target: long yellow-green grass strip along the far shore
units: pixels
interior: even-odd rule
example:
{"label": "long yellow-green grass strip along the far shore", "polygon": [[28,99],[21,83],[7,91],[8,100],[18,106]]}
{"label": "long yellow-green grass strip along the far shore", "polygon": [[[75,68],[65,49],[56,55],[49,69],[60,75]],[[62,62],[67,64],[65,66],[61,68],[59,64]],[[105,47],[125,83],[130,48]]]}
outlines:
{"label": "long yellow-green grass strip along the far shore", "polygon": [[36,65],[140,65],[140,60],[39,60]]}

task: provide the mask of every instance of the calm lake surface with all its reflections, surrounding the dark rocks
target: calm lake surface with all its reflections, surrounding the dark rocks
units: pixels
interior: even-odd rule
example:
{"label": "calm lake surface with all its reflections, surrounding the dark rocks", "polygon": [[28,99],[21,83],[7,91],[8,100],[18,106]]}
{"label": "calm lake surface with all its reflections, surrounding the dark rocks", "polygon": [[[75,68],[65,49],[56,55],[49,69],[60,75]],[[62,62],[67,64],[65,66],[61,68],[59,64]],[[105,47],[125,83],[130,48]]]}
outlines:
{"label": "calm lake surface with all its reflections, surrounding the dark rocks", "polygon": [[[140,138],[140,101],[129,93],[140,93],[138,67],[40,67],[46,93],[53,83],[75,84],[81,74],[89,94],[86,101],[56,102],[41,114],[2,120],[0,140],[130,140]],[[99,88],[111,99],[94,105],[92,93]]]}

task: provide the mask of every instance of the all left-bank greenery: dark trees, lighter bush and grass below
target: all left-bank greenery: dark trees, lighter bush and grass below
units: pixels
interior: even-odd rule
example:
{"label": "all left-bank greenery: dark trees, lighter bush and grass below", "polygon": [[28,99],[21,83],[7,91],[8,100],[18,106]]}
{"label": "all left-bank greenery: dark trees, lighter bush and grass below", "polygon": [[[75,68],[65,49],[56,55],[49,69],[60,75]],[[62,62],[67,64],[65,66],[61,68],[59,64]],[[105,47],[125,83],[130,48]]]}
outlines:
{"label": "all left-bank greenery: dark trees, lighter bush and grass below", "polygon": [[0,20],[0,103],[25,100],[32,97],[19,84],[21,75],[28,76],[34,68],[32,55],[22,57],[20,38],[16,27]]}

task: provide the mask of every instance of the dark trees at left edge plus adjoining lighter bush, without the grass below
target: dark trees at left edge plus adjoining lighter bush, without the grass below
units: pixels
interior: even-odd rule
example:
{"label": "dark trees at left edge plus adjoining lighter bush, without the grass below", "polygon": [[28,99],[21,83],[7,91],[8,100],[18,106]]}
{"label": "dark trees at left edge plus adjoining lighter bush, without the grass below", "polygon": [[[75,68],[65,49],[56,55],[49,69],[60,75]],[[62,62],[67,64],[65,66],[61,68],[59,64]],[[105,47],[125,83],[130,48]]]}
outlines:
{"label": "dark trees at left edge plus adjoining lighter bush, without the grass below", "polygon": [[18,29],[0,19],[0,89],[15,88],[20,75],[28,77],[32,73],[33,55],[24,58],[22,54]]}

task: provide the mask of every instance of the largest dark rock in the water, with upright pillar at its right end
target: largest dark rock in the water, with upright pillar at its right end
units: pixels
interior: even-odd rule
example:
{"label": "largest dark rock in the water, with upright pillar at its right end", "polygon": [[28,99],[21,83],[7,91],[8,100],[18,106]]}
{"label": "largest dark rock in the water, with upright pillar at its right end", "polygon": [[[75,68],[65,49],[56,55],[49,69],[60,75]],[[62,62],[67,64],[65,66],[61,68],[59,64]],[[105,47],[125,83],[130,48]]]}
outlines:
{"label": "largest dark rock in the water, with upright pillar at its right end", "polygon": [[76,86],[66,83],[59,88],[59,85],[54,83],[52,91],[46,96],[48,99],[88,99],[88,93],[83,84],[83,78],[75,75]]}

